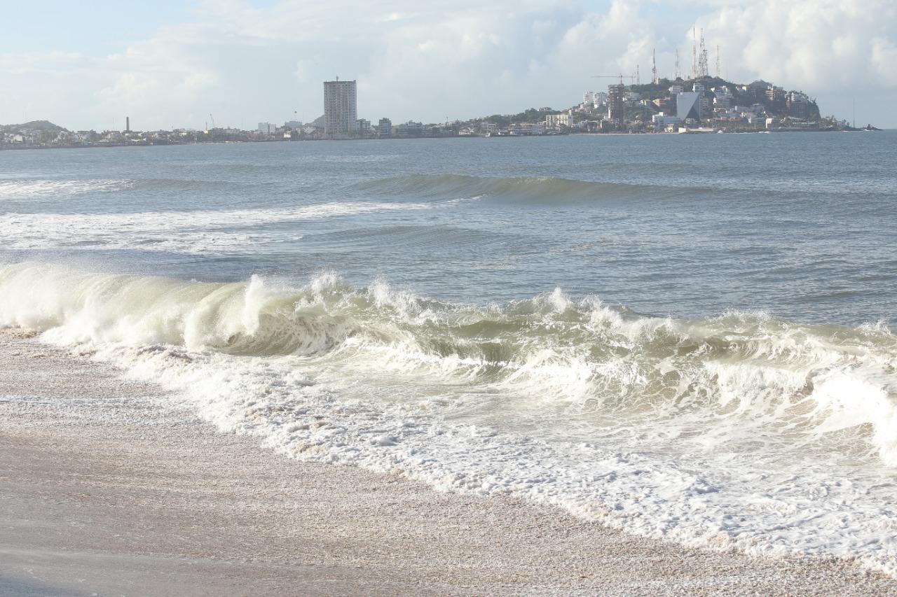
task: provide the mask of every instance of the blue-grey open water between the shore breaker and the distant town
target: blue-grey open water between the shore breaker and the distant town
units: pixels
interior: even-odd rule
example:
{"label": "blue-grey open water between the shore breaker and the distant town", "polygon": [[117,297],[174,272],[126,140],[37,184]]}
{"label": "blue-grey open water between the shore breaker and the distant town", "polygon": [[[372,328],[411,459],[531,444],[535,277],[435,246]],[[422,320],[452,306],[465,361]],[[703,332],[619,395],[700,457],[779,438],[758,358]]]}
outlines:
{"label": "blue-grey open water between the shore breaker and the distant town", "polygon": [[[897,298],[895,163],[893,132],[5,151],[0,258],[215,281],[250,273],[302,281],[333,270],[353,283],[383,276],[476,303],[559,286],[645,314],[759,309],[861,324],[890,319]],[[427,178],[440,175],[475,178]],[[538,177],[548,180],[520,180]],[[87,187],[15,190],[65,180]],[[97,180],[122,184],[93,191]],[[553,184],[564,181],[595,185]],[[262,223],[249,214],[213,222],[215,231],[245,234],[239,246],[217,249],[183,238],[175,247],[109,250],[91,234],[102,221],[78,221],[85,213],[193,212],[186,236],[205,230],[212,212],[334,202],[427,209]],[[44,213],[71,215],[71,237],[16,238],[14,214]],[[136,217],[125,232],[140,229]]]}

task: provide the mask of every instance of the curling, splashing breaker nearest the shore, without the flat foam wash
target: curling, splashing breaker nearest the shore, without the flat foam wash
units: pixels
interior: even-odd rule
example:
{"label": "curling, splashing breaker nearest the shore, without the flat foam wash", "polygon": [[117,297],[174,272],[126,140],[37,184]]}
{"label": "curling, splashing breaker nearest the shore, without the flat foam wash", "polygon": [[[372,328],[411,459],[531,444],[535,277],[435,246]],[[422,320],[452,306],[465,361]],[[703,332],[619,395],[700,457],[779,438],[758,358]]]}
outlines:
{"label": "curling, splashing breaker nearest the shore, without the flat foam wash", "polygon": [[862,458],[865,449],[897,465],[897,338],[880,324],[646,317],[559,289],[477,307],[385,281],[356,288],[335,273],[295,288],[33,263],[0,270],[0,324],[59,342],[289,356],[371,387],[451,388],[478,396],[477,409],[566,433],[639,428],[674,451],[747,453],[763,437],[780,454]]}

